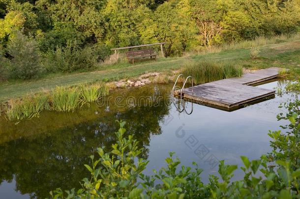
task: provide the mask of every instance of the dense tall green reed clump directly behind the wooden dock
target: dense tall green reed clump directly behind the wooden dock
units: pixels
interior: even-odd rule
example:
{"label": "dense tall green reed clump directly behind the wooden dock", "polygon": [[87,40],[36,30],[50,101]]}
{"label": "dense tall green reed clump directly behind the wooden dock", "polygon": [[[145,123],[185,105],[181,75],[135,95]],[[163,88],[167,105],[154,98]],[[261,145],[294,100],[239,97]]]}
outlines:
{"label": "dense tall green reed clump directly behind the wooden dock", "polygon": [[213,82],[225,78],[240,77],[242,67],[228,62],[189,62],[183,67],[181,73],[187,77],[192,76],[196,85]]}

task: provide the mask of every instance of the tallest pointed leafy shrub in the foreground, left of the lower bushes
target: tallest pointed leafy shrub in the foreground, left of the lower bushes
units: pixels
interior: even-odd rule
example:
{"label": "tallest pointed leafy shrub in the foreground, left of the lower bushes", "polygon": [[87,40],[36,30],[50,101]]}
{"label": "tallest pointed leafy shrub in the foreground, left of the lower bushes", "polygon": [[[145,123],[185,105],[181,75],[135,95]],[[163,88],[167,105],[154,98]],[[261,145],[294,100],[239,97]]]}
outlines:
{"label": "tallest pointed leafy shrub in the foreground, left of the lower bushes", "polygon": [[[134,199],[142,194],[142,189],[138,188],[136,180],[148,161],[138,158],[142,150],[138,148],[138,142],[132,136],[123,138],[125,133],[125,122],[120,121],[120,129],[116,132],[118,141],[113,144],[113,150],[104,153],[103,148],[98,148],[99,159],[94,160],[91,155],[91,166],[85,165],[90,171],[91,178],[83,179],[83,187],[75,193],[75,190],[67,192],[68,197],[74,198],[121,198]],[[52,197],[63,198],[60,189],[50,192]]]}

